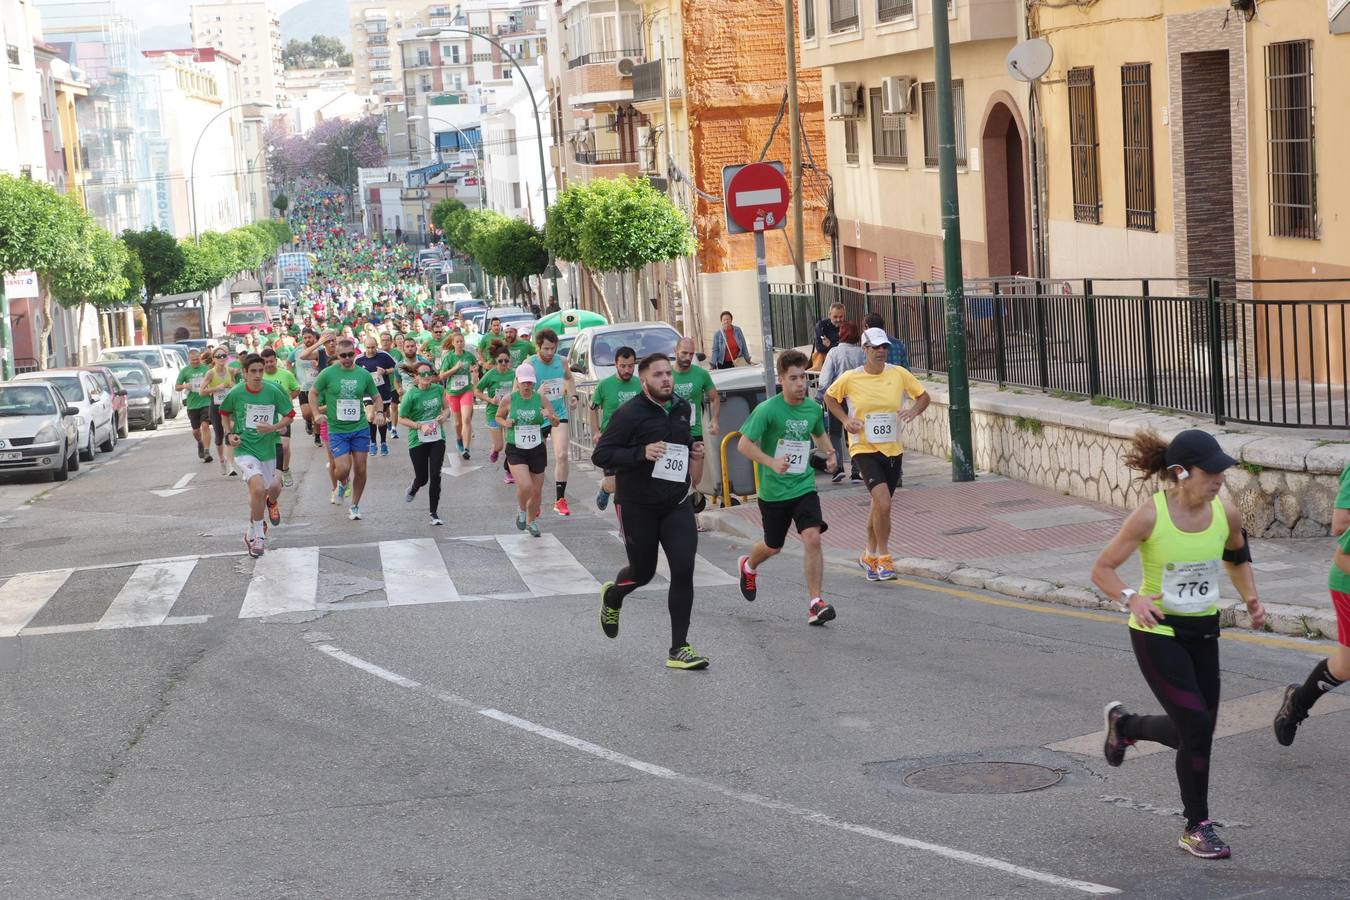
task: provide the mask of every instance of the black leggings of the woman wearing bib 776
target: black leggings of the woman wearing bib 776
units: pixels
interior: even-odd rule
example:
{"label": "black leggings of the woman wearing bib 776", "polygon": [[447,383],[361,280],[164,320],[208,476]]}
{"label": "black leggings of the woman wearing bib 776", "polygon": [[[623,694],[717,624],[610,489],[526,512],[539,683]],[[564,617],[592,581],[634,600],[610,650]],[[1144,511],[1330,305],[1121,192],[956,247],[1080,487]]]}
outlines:
{"label": "black leggings of the woman wearing bib 776", "polygon": [[[1168,623],[1174,623],[1172,617]],[[1177,627],[1177,637],[1130,629],[1130,644],[1143,680],[1166,715],[1127,715],[1120,734],[1131,741],[1153,741],[1177,752],[1177,784],[1187,827],[1210,818],[1210,749],[1219,714],[1219,622]],[[1199,622],[1197,622],[1199,625]]]}

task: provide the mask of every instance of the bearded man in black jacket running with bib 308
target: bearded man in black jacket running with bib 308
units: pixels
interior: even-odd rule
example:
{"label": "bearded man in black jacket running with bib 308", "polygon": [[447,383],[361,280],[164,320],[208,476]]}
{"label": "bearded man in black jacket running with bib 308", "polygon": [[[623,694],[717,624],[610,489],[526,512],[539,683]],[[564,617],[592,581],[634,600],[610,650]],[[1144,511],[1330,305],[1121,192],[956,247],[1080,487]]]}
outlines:
{"label": "bearded man in black jacket running with bib 308", "polygon": [[605,426],[591,461],[616,470],[614,509],[624,529],[628,565],[599,590],[599,626],[618,637],[624,598],[656,575],[656,555],[666,551],[671,587],[672,669],[706,669],[707,657],[688,644],[694,607],[694,555],[698,526],[690,499],[690,460],[703,457],[703,443],[690,434],[690,406],[675,394],[671,360],[652,354],[637,366],[643,393],[628,401]]}

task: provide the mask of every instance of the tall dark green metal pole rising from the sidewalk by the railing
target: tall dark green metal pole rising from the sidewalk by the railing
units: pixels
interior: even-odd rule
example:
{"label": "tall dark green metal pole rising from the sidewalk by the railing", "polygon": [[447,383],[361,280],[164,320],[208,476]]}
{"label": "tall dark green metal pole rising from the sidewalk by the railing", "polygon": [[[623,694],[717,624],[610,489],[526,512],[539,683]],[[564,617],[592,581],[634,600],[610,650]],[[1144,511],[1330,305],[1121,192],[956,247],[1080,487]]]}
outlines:
{"label": "tall dark green metal pole rising from the sidewalk by the railing", "polygon": [[961,278],[961,204],[956,193],[956,119],[952,109],[952,43],[946,0],[933,0],[933,69],[937,82],[938,185],[942,197],[942,275],[946,289],[948,425],[952,480],[975,480],[971,381],[965,371],[965,283]]}

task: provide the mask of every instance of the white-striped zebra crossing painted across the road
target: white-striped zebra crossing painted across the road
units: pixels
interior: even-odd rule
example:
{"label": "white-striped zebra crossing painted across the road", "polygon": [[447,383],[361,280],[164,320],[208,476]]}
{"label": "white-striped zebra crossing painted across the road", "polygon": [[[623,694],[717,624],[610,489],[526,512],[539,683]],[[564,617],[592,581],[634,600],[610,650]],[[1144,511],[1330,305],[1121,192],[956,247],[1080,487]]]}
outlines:
{"label": "white-striped zebra crossing painted across the road", "polygon": [[[622,564],[620,533],[575,536],[571,541],[585,563],[556,534],[536,538],[510,533],[275,548],[256,560],[231,552],[20,572],[0,579],[0,638],[262,619],[285,613],[594,595],[601,579],[613,578]],[[483,572],[500,576],[498,588],[516,590],[475,590],[470,583],[481,584]],[[331,599],[336,595],[325,590],[325,579],[333,578],[359,582],[363,599]],[[85,583],[78,584],[81,580]],[[668,580],[662,556],[656,579],[644,591],[664,591]],[[120,586],[103,587],[108,583]],[[112,599],[97,599],[92,584]],[[734,576],[703,556],[695,559],[695,587],[729,584],[736,584]]]}

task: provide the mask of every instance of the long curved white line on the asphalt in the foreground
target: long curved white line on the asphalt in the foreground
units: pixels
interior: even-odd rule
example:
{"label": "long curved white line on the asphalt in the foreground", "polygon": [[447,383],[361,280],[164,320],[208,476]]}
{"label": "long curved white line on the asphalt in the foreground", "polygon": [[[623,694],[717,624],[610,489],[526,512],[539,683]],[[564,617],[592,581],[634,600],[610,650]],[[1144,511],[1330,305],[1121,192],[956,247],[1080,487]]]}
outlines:
{"label": "long curved white line on the asphalt in the foreground", "polygon": [[1017,876],[1019,878],[1025,878],[1029,881],[1038,881],[1041,884],[1053,885],[1056,888],[1066,888],[1091,895],[1120,893],[1118,888],[1112,888],[1110,885],[1095,884],[1092,881],[1080,881],[1077,878],[1069,878],[1049,872],[1041,872],[1038,869],[1029,869],[1026,866],[1019,866],[1017,864],[1007,862],[1004,860],[986,857],[977,853],[969,853],[967,850],[957,850],[956,847],[942,846],[941,843],[932,843],[929,841],[907,838],[905,835],[892,834],[890,831],[883,831],[880,828],[873,828],[871,826],[857,824],[853,822],[846,822],[844,819],[837,819],[829,814],[819,812],[817,810],[810,810],[806,807],[794,806],[783,800],[775,800],[772,797],[760,793],[751,793],[749,791],[737,791],[736,788],[729,788],[716,781],[709,781],[707,779],[699,779],[690,775],[683,775],[682,772],[667,769],[666,766],[655,765],[652,762],[644,762],[643,760],[637,760],[624,753],[618,753],[617,750],[610,750],[609,748],[599,746],[598,743],[591,743],[590,741],[583,741],[582,738],[575,738],[570,734],[555,731],[554,729],[537,725],[535,722],[531,722],[529,719],[521,719],[518,716],[510,715],[509,712],[502,712],[501,710],[479,708],[477,703],[473,703],[466,698],[450,694],[447,691],[440,691],[436,688],[427,687],[420,681],[414,681],[413,679],[398,675],[397,672],[390,672],[389,669],[379,667],[374,663],[370,663],[367,660],[363,660],[358,656],[352,656],[351,653],[347,653],[342,648],[333,646],[331,644],[315,644],[313,646],[319,652],[325,653],[327,656],[340,663],[358,668],[363,672],[367,672],[369,675],[374,675],[375,677],[383,679],[385,681],[389,681],[392,684],[397,684],[401,688],[429,694],[452,706],[475,710],[478,715],[482,715],[485,718],[501,722],[502,725],[509,725],[514,729],[520,729],[521,731],[535,734],[548,741],[562,743],[563,746],[572,748],[574,750],[579,750],[582,753],[594,756],[608,762],[626,766],[629,769],[633,769],[634,772],[641,772],[643,775],[649,775],[652,777],[663,779],[666,781],[675,781],[686,787],[698,788],[701,791],[716,793],[728,797],[730,800],[737,800],[740,803],[745,803],[749,806],[760,807],[763,810],[782,812],[788,816],[810,822],[811,824],[821,824],[828,828],[834,828],[836,831],[846,831],[849,834],[856,834],[864,838],[872,838],[873,841],[894,843],[896,846],[907,847],[910,850],[930,853],[934,855],[944,857],[946,860],[952,860],[954,862],[964,862],[967,865],[994,869],[996,872],[1003,872],[1006,874]]}

